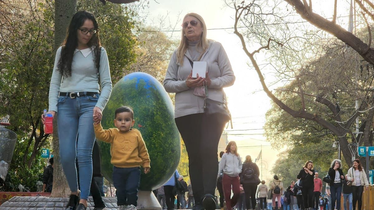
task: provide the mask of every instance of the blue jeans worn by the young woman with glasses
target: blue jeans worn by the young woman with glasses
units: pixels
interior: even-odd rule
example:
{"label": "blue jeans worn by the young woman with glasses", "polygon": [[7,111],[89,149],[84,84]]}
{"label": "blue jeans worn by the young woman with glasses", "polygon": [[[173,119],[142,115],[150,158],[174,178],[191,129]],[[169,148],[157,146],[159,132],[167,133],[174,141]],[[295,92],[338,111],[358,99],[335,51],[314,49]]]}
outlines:
{"label": "blue jeans worn by the young woman with glasses", "polygon": [[99,94],[71,99],[68,95],[58,98],[58,138],[62,169],[69,188],[78,190],[76,159],[79,167],[80,199],[87,200],[92,179],[93,108]]}

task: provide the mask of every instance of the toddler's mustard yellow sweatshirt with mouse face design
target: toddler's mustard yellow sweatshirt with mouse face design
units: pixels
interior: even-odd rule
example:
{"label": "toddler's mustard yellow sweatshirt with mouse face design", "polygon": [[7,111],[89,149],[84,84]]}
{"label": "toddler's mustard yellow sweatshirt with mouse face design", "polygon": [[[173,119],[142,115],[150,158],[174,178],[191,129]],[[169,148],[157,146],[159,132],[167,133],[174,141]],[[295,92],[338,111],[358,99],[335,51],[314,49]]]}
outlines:
{"label": "toddler's mustard yellow sweatshirt with mouse face design", "polygon": [[117,128],[102,129],[101,123],[93,125],[96,139],[110,143],[110,162],[116,167],[150,167],[147,147],[139,130],[121,132]]}

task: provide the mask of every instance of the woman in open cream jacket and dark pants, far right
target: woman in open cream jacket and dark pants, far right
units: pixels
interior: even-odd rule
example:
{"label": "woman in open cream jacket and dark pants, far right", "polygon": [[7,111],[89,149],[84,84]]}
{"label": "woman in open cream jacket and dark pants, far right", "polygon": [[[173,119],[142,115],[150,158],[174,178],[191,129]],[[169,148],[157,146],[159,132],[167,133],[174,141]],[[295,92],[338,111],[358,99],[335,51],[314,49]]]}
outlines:
{"label": "woman in open cream jacket and dark pants, far right", "polygon": [[356,209],[356,203],[358,201],[358,209],[362,206],[362,192],[364,191],[364,185],[366,189],[369,187],[368,178],[364,168],[361,166],[359,159],[353,161],[353,167],[348,170],[347,180],[352,181],[352,195],[353,195],[353,210]]}

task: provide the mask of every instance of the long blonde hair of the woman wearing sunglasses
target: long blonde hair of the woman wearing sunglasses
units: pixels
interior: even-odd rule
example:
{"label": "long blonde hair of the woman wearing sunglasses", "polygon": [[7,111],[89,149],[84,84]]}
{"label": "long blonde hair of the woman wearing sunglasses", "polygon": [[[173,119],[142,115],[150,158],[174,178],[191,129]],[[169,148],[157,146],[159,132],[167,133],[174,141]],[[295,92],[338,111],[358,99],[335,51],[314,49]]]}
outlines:
{"label": "long blonde hair of the woman wearing sunglasses", "polygon": [[[184,18],[186,18],[187,16],[195,17],[200,22],[201,27],[203,28],[203,33],[201,35],[200,41],[199,43],[197,43],[197,46],[196,46],[197,49],[202,49],[202,52],[200,52],[200,56],[199,56],[199,60],[200,60],[205,50],[208,49],[209,47],[209,41],[208,39],[206,39],[206,25],[205,25],[204,19],[196,13],[187,13],[187,15],[184,16]],[[184,53],[186,53],[187,48],[188,48],[188,39],[186,37],[186,34],[184,34],[184,30],[182,29],[181,42],[177,49],[177,63],[179,63],[180,65],[183,65],[183,56],[184,56]]]}

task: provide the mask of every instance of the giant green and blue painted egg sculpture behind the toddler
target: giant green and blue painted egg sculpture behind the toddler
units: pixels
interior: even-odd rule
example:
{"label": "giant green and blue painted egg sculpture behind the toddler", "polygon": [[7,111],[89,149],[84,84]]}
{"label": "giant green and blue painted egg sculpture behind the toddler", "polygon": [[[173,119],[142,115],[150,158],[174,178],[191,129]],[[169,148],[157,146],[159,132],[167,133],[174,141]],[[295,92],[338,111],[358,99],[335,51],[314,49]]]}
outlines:
{"label": "giant green and blue painted egg sculpture behind the toddler", "polygon": [[[144,72],[123,77],[114,87],[102,112],[102,127],[115,127],[114,112],[120,106],[134,109],[134,128],[140,130],[151,159],[150,173],[141,168],[140,188],[151,191],[166,183],[180,159],[180,135],[174,121],[174,107],[162,84]],[[113,183],[110,143],[100,142],[101,172]]]}

